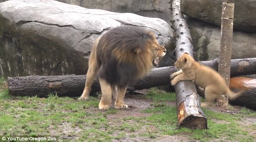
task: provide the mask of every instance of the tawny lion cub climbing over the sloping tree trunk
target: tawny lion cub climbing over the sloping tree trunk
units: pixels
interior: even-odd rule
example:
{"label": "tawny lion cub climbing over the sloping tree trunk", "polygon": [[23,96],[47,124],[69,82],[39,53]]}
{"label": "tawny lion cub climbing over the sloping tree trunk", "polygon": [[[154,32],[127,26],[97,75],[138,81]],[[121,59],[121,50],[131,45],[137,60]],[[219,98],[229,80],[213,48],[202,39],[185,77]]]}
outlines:
{"label": "tawny lion cub climbing over the sloping tree trunk", "polygon": [[229,95],[229,99],[234,100],[243,93],[243,91],[238,93],[231,91],[217,71],[211,67],[200,65],[188,53],[179,57],[174,65],[181,70],[170,75],[172,86],[179,81],[189,80],[204,88],[206,102],[201,103],[201,107],[214,105],[215,99],[222,94]]}

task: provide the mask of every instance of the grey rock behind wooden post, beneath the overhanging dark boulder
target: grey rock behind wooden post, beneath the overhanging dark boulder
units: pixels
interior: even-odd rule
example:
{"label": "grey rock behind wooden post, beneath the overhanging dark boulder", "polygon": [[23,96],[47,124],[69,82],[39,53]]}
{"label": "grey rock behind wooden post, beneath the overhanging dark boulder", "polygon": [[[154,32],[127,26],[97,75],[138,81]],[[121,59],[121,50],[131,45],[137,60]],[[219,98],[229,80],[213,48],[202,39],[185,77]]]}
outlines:
{"label": "grey rock behind wooden post, beneath the overhanging dark boulder", "polygon": [[[220,27],[187,18],[197,61],[212,60],[220,53]],[[256,57],[256,33],[233,31],[232,59]]]}

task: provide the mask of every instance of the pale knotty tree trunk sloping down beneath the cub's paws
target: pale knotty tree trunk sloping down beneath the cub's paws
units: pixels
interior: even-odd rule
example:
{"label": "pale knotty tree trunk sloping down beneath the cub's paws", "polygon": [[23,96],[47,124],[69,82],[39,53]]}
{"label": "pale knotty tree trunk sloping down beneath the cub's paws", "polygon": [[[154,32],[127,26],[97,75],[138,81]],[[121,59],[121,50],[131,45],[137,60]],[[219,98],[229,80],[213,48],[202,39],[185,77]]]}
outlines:
{"label": "pale knotty tree trunk sloping down beneath the cub's paws", "polygon": [[[172,26],[176,39],[176,59],[187,52],[193,57],[191,34],[180,10],[180,0],[171,0]],[[200,108],[199,95],[192,81],[180,81],[175,86],[178,128],[207,129],[207,120]]]}

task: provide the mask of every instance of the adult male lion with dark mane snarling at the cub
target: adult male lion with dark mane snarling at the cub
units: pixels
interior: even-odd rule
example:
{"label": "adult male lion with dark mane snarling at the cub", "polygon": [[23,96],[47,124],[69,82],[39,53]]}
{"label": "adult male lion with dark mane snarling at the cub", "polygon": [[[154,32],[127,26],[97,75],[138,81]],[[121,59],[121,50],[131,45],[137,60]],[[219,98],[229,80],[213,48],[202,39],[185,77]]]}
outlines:
{"label": "adult male lion with dark mane snarling at the cub", "polygon": [[118,26],[94,41],[89,58],[89,69],[82,96],[88,100],[96,73],[101,85],[100,110],[108,110],[112,93],[116,96],[114,108],[126,109],[124,95],[128,85],[149,73],[166,54],[154,33],[136,26]]}

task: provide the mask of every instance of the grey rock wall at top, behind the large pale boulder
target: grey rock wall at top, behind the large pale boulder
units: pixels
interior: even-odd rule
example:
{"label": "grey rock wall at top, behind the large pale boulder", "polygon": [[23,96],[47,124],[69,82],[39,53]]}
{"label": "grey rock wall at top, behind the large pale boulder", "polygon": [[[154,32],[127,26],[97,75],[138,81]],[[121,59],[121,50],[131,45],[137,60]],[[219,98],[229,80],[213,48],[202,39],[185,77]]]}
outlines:
{"label": "grey rock wall at top, behind the large pale boulder", "polygon": [[170,0],[57,0],[84,8],[161,18],[170,24]]}

